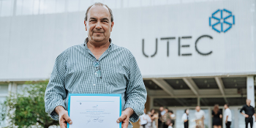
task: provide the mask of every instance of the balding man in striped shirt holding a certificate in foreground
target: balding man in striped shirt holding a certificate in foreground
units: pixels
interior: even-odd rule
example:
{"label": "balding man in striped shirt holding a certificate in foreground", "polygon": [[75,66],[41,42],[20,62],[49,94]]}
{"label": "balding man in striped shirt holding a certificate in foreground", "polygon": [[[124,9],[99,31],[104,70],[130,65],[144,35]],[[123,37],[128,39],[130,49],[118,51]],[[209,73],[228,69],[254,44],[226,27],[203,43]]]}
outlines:
{"label": "balding man in striped shirt holding a certificate in foreground", "polygon": [[[67,113],[68,94],[121,94],[121,127],[132,127],[146,102],[146,89],[135,57],[111,42],[113,14],[102,3],[91,5],[84,20],[84,44],[64,50],[57,59],[45,91],[45,111],[61,128],[72,124]],[[64,100],[64,102],[63,102]],[[106,126],[107,127],[107,126]]]}

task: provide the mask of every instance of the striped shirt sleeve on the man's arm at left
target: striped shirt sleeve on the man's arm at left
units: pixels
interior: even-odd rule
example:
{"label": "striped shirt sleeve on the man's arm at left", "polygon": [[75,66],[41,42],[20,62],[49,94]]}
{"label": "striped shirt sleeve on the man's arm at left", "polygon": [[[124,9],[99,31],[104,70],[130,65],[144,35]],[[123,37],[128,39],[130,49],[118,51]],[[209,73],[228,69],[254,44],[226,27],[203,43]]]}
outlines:
{"label": "striped shirt sleeve on the man's arm at left", "polygon": [[67,51],[61,53],[54,64],[53,72],[50,75],[48,86],[45,90],[45,112],[50,114],[54,120],[59,120],[59,115],[55,112],[57,106],[64,105],[67,92],[64,85],[64,75],[66,73]]}

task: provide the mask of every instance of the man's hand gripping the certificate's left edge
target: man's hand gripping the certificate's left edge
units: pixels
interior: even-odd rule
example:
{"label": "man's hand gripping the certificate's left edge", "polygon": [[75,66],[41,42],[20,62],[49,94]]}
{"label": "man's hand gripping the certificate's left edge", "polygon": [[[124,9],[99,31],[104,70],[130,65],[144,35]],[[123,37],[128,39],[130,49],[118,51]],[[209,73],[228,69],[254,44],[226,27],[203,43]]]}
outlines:
{"label": "man's hand gripping the certificate's left edge", "polygon": [[62,106],[57,106],[55,108],[55,111],[59,115],[59,125],[61,128],[67,128],[67,122],[69,124],[72,124],[71,118],[69,118],[67,110],[65,110]]}

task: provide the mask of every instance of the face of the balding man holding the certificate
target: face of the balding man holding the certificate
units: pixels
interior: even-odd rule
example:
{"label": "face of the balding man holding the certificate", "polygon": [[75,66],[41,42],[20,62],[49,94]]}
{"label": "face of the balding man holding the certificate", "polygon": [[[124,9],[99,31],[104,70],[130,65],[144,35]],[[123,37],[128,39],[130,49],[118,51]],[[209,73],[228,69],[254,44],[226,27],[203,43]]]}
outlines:
{"label": "face of the balding man holding the certificate", "polygon": [[94,42],[102,42],[110,38],[110,31],[113,28],[110,12],[105,6],[92,6],[87,14],[87,21],[84,21],[89,39]]}

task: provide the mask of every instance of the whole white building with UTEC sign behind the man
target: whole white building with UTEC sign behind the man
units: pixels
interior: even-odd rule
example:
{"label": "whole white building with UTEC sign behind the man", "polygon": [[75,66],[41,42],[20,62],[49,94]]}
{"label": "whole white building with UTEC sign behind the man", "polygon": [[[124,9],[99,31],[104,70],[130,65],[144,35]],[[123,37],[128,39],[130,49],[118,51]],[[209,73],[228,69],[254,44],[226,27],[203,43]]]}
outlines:
{"label": "whole white building with UTEC sign behind the man", "polygon": [[[87,37],[83,0],[0,1],[0,102],[28,80],[47,80],[56,57]],[[148,109],[165,106],[182,127],[185,108],[230,104],[233,128],[244,127],[238,109],[255,106],[255,0],[113,0],[111,39],[135,56],[148,91]],[[222,108],[223,109],[223,108]],[[194,111],[193,111],[194,110]],[[223,127],[225,125],[223,124]]]}

